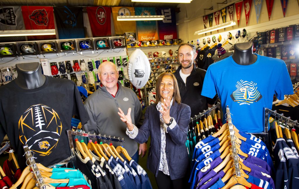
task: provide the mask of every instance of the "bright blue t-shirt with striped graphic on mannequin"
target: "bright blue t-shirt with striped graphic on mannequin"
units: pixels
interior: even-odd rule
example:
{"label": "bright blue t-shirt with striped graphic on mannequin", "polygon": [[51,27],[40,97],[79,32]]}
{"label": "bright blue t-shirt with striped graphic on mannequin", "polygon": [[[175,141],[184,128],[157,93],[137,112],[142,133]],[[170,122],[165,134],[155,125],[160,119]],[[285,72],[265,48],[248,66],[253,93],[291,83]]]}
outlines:
{"label": "bright blue t-shirt with striped graphic on mannequin", "polygon": [[209,98],[218,93],[223,114],[228,105],[233,124],[248,133],[264,130],[263,109],[271,109],[274,94],[280,100],[284,99],[284,95],[293,94],[283,60],[252,54],[252,50],[251,55],[256,61],[249,65],[237,64],[232,56],[211,64],[201,93]]}

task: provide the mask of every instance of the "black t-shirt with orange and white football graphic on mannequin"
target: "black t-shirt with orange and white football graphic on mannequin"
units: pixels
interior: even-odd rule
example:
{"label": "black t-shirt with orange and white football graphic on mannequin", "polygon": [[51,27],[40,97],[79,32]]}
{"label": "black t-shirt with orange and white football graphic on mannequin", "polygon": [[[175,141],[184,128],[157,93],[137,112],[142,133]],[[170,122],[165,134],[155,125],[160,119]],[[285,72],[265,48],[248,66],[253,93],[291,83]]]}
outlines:
{"label": "black t-shirt with orange and white football graphic on mannequin", "polygon": [[26,167],[22,156],[26,144],[35,161],[45,166],[71,155],[66,130],[71,129],[72,116],[78,116],[82,124],[89,120],[74,82],[46,76],[41,87],[26,90],[12,81],[0,87],[0,96],[0,122],[21,169]]}

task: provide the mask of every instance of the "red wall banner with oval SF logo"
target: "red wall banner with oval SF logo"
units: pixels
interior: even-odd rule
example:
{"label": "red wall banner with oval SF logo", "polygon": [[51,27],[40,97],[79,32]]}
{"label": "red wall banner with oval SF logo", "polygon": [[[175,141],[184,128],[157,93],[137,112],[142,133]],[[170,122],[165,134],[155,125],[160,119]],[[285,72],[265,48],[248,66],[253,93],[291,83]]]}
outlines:
{"label": "red wall banner with oval SF logo", "polygon": [[93,37],[111,36],[111,8],[86,7]]}

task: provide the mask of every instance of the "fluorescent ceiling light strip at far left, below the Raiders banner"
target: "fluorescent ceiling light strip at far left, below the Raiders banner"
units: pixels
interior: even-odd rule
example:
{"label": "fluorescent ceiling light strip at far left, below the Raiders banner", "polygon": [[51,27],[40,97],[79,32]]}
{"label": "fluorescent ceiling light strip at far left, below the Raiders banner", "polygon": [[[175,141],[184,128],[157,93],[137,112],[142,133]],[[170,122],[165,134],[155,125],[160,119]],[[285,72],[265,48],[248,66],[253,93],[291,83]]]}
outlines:
{"label": "fluorescent ceiling light strip at far left, below the Raiders banner", "polygon": [[2,30],[0,32],[0,37],[44,36],[44,35],[56,35],[55,29],[49,29],[49,30]]}

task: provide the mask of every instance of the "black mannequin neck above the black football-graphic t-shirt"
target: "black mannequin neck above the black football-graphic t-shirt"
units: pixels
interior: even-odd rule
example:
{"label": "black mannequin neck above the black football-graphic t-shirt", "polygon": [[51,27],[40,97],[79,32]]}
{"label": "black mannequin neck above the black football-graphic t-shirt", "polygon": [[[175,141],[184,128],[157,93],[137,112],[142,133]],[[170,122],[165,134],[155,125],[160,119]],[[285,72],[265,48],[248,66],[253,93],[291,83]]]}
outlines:
{"label": "black mannequin neck above the black football-graphic t-shirt", "polygon": [[22,89],[39,88],[46,81],[38,62],[16,64],[16,70],[18,77],[14,82]]}

